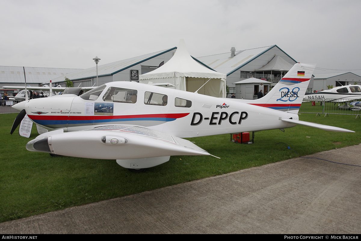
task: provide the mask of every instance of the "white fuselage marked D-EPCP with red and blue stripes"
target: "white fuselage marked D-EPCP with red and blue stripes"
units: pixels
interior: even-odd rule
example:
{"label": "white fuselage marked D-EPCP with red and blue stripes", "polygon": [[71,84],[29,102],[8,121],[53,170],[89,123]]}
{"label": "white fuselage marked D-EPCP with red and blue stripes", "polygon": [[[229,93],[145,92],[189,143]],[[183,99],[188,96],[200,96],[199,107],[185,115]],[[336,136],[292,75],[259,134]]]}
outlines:
{"label": "white fuselage marked D-EPCP with red and blue stripes", "polygon": [[288,128],[297,114],[136,82],[110,82],[81,96],[30,100],[29,118],[48,130],[87,130],[115,124],[143,126],[177,137]]}

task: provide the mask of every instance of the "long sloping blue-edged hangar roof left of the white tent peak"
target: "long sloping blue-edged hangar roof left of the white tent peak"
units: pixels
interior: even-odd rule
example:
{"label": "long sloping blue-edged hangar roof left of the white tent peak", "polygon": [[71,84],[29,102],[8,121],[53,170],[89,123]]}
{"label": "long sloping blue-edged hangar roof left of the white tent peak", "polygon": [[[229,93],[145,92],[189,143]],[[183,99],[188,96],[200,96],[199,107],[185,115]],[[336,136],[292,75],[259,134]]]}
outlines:
{"label": "long sloping blue-edged hangar roof left of the white tent peak", "polygon": [[[139,63],[142,63],[146,60],[149,60],[151,58],[154,58],[156,56],[159,56],[163,53],[169,52],[176,48],[177,47],[165,49],[165,50],[154,52],[154,53],[149,53],[149,54],[145,54],[145,55],[141,55],[141,56],[137,56],[137,57],[133,57],[133,58],[128,58],[126,60],[120,60],[120,61],[113,62],[113,63],[107,63],[105,65],[98,65],[98,76],[106,76],[106,75],[116,74],[122,70],[128,69],[129,67],[137,65]],[[96,77],[96,65],[89,69],[75,71],[73,73],[66,75],[66,77],[68,77],[70,80],[94,78],[94,77]],[[53,83],[60,82],[60,81],[64,81],[64,78],[56,78],[56,79],[52,80]]]}

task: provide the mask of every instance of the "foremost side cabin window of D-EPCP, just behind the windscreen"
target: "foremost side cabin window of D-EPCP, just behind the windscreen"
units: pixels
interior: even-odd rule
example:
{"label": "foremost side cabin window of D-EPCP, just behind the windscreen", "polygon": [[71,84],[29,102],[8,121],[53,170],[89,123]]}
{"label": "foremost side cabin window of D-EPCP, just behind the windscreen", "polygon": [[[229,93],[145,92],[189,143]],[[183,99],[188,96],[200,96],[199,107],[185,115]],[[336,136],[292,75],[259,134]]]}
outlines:
{"label": "foremost side cabin window of D-EPCP, just behind the windscreen", "polygon": [[121,102],[134,104],[137,99],[138,91],[135,89],[125,89],[119,87],[109,87],[103,96],[104,101]]}

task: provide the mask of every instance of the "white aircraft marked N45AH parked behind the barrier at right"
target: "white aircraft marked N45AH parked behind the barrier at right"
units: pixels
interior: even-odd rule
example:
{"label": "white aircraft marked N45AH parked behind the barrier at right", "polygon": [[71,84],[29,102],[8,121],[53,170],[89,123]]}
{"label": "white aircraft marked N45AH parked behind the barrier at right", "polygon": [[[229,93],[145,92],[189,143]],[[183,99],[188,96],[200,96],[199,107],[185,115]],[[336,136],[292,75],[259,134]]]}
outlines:
{"label": "white aircraft marked N45AH parked behind the barrier at right", "polygon": [[[303,97],[303,100],[310,100],[316,102],[346,102],[361,99],[361,86],[351,84],[348,86],[339,86],[324,91],[315,93],[308,93]],[[340,108],[349,108],[348,104],[339,106]]]}

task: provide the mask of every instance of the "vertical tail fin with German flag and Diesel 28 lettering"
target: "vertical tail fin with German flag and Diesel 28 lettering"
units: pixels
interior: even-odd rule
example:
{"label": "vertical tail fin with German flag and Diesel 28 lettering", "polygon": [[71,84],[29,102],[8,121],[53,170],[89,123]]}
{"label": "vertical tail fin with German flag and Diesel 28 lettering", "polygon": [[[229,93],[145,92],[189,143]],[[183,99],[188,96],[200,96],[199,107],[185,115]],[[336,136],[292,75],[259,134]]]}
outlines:
{"label": "vertical tail fin with German flag and Diesel 28 lettering", "polygon": [[264,97],[248,104],[297,114],[316,64],[296,63]]}

